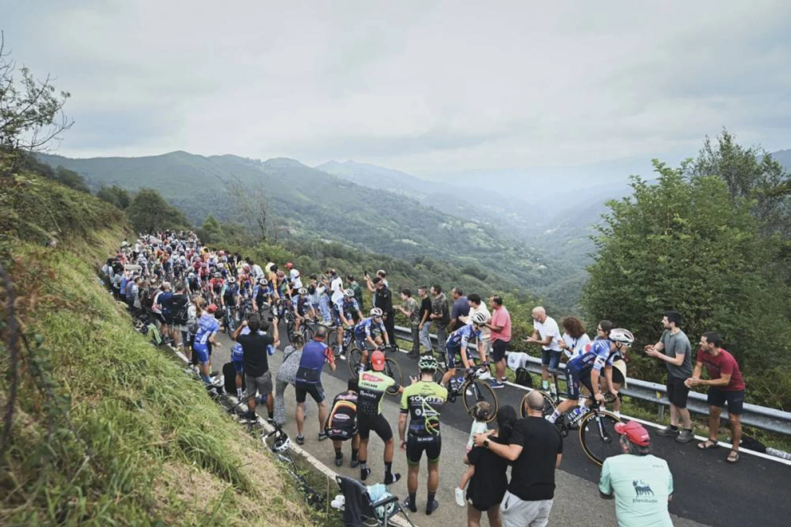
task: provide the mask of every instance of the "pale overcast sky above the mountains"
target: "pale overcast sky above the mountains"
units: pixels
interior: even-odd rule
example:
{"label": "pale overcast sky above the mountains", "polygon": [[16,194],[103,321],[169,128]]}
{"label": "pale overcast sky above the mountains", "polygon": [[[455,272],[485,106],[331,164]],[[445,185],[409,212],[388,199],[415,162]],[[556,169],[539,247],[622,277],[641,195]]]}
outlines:
{"label": "pale overcast sky above the mountains", "polygon": [[[557,4],[557,5],[556,5]],[[416,175],[791,148],[791,2],[4,0],[72,93],[59,153],[187,150]]]}

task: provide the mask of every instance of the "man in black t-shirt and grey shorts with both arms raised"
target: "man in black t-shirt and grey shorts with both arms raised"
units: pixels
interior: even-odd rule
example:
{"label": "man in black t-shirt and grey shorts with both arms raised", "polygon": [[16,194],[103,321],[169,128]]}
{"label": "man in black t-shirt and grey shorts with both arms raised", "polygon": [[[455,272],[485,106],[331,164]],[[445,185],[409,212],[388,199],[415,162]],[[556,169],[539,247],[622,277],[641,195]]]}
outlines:
{"label": "man in black t-shirt and grey shorts with both arms raised", "polygon": [[[244,368],[244,382],[247,384],[248,408],[250,417],[255,418],[255,393],[260,392],[262,397],[267,397],[267,412],[269,419],[274,418],[274,401],[272,399],[272,375],[269,371],[269,352],[274,353],[274,348],[279,344],[277,318],[271,324],[273,335],[267,335],[269,322],[261,322],[257,316],[252,316],[248,321],[233,332],[233,340],[242,345],[244,353],[242,364]],[[250,333],[243,335],[242,330],[248,327]],[[273,346],[273,348],[270,348]]]}

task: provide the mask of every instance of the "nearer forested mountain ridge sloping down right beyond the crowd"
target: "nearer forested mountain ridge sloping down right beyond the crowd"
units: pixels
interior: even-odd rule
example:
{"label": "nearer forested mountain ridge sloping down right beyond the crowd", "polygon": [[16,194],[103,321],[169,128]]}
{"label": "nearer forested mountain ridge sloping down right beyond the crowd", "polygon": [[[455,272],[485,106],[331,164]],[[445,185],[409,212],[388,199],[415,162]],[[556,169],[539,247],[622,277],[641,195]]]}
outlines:
{"label": "nearer forested mountain ridge sloping down right beyond the crowd", "polygon": [[[195,223],[209,213],[221,220],[239,219],[226,187],[237,181],[247,189],[263,190],[278,218],[281,238],[336,241],[412,262],[434,258],[452,262],[473,277],[494,274],[503,288],[539,293],[573,273],[571,265],[530,249],[513,235],[510,224],[487,220],[483,212],[472,217],[461,210],[464,217],[453,216],[430,206],[434,205],[431,200],[424,204],[403,194],[361,186],[296,160],[262,162],[187,152],[85,160],[40,156],[40,160],[84,175],[93,187],[159,190]],[[455,193],[435,196],[437,204],[457,200]],[[576,297],[551,301],[568,309]]]}

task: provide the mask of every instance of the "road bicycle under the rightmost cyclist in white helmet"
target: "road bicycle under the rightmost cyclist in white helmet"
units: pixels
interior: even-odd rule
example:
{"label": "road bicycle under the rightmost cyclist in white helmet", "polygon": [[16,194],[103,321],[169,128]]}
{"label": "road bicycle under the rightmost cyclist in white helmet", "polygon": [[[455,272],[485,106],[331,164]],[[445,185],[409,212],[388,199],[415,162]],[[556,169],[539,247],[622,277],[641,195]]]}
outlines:
{"label": "road bicycle under the rightmost cyclist in white helmet", "polygon": [[[560,393],[558,390],[558,376],[564,375],[564,372],[557,370],[550,370],[554,378],[555,393]],[[568,382],[568,381],[566,381]],[[560,403],[560,398],[551,393],[538,390],[541,393],[544,405],[544,416],[551,416],[555,408]],[[529,393],[529,392],[528,392]],[[581,395],[585,399],[592,399],[589,395]],[[525,412],[528,394],[525,393],[522,397],[522,404],[520,405],[520,412],[522,417],[527,417]],[[604,394],[604,402],[611,403],[615,401],[615,396],[611,393]],[[580,444],[585,455],[590,457],[591,461],[596,465],[602,465],[607,457],[617,456],[623,454],[619,442],[618,434],[615,432],[615,423],[621,423],[621,419],[612,412],[602,409],[593,401],[593,404],[588,408],[588,412],[584,416],[577,418],[577,421],[570,422],[570,412],[558,417],[554,425],[558,427],[558,431],[562,437],[569,435],[569,432],[578,427]]]}

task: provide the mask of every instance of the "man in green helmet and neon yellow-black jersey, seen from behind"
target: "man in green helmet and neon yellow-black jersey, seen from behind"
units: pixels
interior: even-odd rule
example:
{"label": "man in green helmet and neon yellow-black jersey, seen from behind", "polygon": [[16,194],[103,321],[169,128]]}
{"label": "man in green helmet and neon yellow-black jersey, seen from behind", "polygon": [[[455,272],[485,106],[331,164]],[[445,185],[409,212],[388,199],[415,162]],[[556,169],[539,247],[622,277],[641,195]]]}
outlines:
{"label": "man in green helmet and neon yellow-black jersey, seen from behind", "polygon": [[[434,382],[434,372],[437,371],[437,359],[433,355],[423,355],[418,360],[420,380],[407,386],[401,396],[401,416],[398,421],[398,433],[401,440],[401,450],[407,451],[407,491],[409,498],[405,505],[412,512],[417,512],[415,495],[418,492],[418,472],[420,472],[420,458],[426,452],[429,465],[428,499],[426,500],[426,514],[433,513],[439,503],[434,499],[440,482],[440,452],[442,450],[442,437],[440,435],[440,413],[442,405],[448,401],[448,390]],[[409,421],[409,434],[407,433],[407,415]]]}

